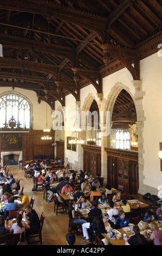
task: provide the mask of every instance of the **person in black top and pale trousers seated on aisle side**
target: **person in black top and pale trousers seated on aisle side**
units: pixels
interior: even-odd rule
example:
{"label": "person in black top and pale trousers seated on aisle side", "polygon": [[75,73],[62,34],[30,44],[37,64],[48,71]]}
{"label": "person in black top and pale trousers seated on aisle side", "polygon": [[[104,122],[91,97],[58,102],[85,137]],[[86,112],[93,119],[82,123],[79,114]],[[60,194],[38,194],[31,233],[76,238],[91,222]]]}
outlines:
{"label": "person in black top and pale trousers seated on aisle side", "polygon": [[[92,203],[92,205],[94,206],[93,209],[91,209],[88,212],[88,217],[91,218],[92,220],[92,229],[95,232],[96,228],[97,228],[97,221],[99,220],[99,218],[101,217],[102,211],[101,209],[98,208],[98,201],[94,200],[94,202]],[[89,242],[89,235],[88,235],[88,229],[90,228],[90,222],[87,223],[83,223],[82,224],[82,230],[83,230],[83,238],[82,240],[85,242]]]}

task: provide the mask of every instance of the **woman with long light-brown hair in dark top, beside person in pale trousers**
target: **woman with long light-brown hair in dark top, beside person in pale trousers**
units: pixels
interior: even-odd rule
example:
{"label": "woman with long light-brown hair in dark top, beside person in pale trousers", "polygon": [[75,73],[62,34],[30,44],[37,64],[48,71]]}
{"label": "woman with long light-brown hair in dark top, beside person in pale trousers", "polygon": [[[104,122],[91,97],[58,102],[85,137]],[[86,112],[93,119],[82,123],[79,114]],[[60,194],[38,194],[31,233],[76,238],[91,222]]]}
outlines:
{"label": "woman with long light-brown hair in dark top, beside person in pale trousers", "polygon": [[107,212],[102,212],[102,220],[99,222],[98,233],[99,238],[103,241],[105,245],[108,245],[109,242],[101,233],[109,233],[112,229],[118,228],[116,224],[109,220],[109,215]]}

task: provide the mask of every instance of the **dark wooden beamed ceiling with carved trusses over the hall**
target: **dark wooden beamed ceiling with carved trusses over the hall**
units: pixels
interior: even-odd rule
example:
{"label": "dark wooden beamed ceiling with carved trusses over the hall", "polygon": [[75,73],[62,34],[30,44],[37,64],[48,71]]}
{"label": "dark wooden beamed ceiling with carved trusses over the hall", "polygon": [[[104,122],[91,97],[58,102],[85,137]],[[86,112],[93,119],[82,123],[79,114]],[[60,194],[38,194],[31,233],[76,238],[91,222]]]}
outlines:
{"label": "dark wooden beamed ceiling with carved trusses over the hall", "polygon": [[0,0],[0,87],[34,90],[54,109],[90,83],[102,93],[102,78],[122,68],[140,80],[161,19],[160,0]]}

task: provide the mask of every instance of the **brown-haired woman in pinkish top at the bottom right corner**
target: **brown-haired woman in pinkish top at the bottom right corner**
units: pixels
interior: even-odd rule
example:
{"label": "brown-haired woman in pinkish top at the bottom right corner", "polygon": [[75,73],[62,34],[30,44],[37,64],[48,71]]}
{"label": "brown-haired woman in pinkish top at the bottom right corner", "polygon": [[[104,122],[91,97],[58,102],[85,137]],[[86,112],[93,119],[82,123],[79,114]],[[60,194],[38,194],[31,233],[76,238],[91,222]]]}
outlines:
{"label": "brown-haired woman in pinkish top at the bottom right corner", "polygon": [[155,223],[154,221],[150,223],[150,228],[152,231],[150,237],[148,237],[148,234],[145,231],[147,242],[153,242],[153,245],[162,245],[162,230],[159,230],[157,223]]}

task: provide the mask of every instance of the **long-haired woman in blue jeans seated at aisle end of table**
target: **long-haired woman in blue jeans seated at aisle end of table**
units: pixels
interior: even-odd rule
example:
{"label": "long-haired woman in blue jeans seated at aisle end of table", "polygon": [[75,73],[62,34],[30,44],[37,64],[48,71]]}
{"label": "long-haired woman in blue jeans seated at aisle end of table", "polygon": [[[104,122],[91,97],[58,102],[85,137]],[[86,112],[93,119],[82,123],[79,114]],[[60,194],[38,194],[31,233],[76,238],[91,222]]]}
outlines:
{"label": "long-haired woman in blue jeans seated at aisle end of table", "polygon": [[[75,204],[74,200],[69,200],[68,212],[70,214],[70,219],[72,220],[72,223],[74,224],[86,223],[87,221],[85,220],[85,218],[80,216],[79,212],[75,211],[74,204]],[[79,228],[78,231],[81,231],[81,228]]]}

